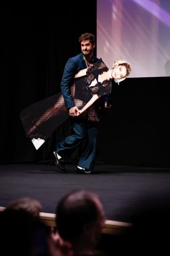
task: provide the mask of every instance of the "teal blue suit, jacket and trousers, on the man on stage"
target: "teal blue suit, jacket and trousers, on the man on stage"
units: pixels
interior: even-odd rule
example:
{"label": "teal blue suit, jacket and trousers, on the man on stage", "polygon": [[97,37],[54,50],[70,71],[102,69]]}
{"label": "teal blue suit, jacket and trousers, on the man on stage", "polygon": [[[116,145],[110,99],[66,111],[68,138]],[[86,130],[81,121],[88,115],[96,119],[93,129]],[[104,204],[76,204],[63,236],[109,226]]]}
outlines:
{"label": "teal blue suit, jacket and trousers, on the man on stage", "polygon": [[[92,63],[97,62],[99,59],[95,56],[92,58]],[[70,88],[74,80],[75,74],[81,69],[87,68],[86,62],[83,59],[83,54],[80,53],[77,56],[67,60],[62,81],[61,90],[65,101],[65,106],[69,110],[75,106],[73,102]],[[88,118],[70,117],[74,134],[66,137],[56,145],[56,152],[58,155],[70,156],[73,151],[83,142],[84,148],[80,154],[78,166],[86,168],[88,170],[94,169],[96,149],[97,149],[97,137],[98,137],[98,123],[94,121],[88,121]]]}

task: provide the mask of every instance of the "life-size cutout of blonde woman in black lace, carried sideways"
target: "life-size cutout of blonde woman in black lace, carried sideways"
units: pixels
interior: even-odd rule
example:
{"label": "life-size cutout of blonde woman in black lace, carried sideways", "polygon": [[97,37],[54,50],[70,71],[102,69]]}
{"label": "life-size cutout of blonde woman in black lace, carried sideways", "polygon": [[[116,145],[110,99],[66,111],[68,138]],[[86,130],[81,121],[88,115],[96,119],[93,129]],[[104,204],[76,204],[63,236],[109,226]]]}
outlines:
{"label": "life-size cutout of blonde woman in black lace, carried sideways", "polygon": [[[102,95],[111,93],[113,80],[119,84],[130,73],[131,65],[125,60],[115,61],[113,67],[108,69],[103,60],[99,59],[91,67],[80,70],[71,86],[77,117],[81,115],[82,118],[84,114],[91,121],[98,121],[95,108],[90,108],[91,105]],[[23,109],[20,117],[27,137],[38,149],[69,117],[69,111],[60,92]]]}

